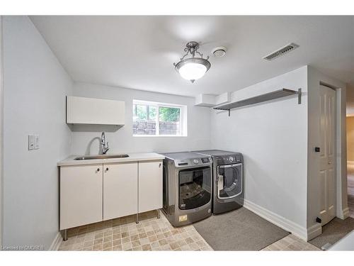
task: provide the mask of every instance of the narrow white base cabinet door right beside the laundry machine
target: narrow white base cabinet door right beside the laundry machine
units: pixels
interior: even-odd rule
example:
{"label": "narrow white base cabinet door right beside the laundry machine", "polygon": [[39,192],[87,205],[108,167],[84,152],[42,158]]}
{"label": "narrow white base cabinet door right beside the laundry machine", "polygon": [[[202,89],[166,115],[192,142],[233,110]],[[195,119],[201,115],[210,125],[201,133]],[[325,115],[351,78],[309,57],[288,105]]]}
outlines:
{"label": "narrow white base cabinet door right beside the laundry machine", "polygon": [[162,208],[162,161],[139,162],[139,213]]}

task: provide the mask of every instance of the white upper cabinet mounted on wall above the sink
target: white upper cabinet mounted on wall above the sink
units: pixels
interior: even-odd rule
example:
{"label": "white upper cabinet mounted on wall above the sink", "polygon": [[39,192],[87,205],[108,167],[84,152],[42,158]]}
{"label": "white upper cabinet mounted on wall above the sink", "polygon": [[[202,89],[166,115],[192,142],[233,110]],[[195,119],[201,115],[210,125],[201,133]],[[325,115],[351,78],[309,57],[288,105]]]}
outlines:
{"label": "white upper cabinet mounted on wall above the sink", "polygon": [[67,96],[67,123],[124,125],[125,102]]}

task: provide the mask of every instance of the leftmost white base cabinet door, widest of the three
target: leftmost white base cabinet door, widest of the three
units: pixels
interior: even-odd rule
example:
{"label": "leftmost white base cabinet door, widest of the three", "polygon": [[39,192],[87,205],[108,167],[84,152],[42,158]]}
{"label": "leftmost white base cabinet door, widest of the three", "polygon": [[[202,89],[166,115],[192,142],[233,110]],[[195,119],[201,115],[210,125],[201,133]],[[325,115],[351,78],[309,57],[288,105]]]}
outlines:
{"label": "leftmost white base cabinet door, widest of the three", "polygon": [[60,230],[102,221],[102,168],[60,167]]}

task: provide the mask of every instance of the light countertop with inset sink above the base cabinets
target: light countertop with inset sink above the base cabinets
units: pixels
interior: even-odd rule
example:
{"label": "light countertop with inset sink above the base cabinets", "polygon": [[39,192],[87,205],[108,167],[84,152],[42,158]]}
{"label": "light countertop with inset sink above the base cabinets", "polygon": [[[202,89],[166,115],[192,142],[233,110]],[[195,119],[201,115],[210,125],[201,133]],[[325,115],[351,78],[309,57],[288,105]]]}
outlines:
{"label": "light countertop with inset sink above the base cabinets", "polygon": [[[114,154],[108,154],[114,155]],[[125,158],[110,158],[110,159],[93,159],[93,160],[74,160],[75,157],[82,155],[71,155],[64,160],[57,163],[57,166],[68,165],[97,165],[101,163],[114,163],[114,162],[137,162],[137,161],[151,161],[151,160],[164,160],[164,155],[158,153],[127,153],[129,157]]]}

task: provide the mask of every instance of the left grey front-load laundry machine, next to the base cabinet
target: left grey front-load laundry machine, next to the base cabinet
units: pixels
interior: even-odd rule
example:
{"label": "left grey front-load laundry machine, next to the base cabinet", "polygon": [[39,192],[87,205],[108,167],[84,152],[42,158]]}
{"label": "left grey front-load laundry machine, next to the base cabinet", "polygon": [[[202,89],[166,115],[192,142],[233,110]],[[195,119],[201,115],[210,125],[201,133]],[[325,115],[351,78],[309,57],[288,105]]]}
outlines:
{"label": "left grey front-load laundry machine, next to the base cabinet", "polygon": [[212,158],[199,153],[162,153],[163,213],[173,226],[211,216]]}

